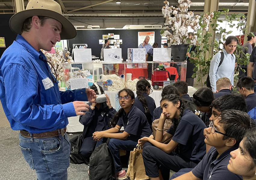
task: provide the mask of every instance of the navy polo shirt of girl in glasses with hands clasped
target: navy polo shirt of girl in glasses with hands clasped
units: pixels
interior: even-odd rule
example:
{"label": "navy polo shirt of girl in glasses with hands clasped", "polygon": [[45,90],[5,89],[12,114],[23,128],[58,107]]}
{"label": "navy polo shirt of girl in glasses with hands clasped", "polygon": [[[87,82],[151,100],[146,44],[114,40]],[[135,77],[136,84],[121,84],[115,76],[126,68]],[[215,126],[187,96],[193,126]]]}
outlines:
{"label": "navy polo shirt of girl in glasses with hands clasped", "polygon": [[117,125],[123,126],[124,131],[130,133],[130,137],[137,139],[149,137],[152,133],[145,114],[135,106],[132,106],[127,115],[123,113]]}

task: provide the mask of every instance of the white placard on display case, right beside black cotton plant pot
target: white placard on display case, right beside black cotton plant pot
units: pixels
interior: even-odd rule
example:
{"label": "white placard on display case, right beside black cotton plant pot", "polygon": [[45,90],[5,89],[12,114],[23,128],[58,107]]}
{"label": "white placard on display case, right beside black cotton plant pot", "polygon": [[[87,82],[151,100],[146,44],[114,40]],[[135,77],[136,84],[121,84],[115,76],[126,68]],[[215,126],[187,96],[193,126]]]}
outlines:
{"label": "white placard on display case, right beside black cotton plant pot", "polygon": [[170,62],[172,54],[171,49],[172,48],[154,48],[153,61]]}

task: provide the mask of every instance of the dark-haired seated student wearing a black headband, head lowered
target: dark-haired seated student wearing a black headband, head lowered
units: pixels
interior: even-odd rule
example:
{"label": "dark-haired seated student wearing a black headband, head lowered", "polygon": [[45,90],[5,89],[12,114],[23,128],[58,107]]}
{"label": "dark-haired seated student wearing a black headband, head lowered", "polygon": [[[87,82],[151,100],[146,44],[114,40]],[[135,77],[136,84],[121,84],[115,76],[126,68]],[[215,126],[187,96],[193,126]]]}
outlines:
{"label": "dark-haired seated student wearing a black headband, head lowered", "polygon": [[214,95],[209,88],[200,88],[193,94],[193,102],[197,106],[197,110],[203,112],[201,119],[209,127],[209,119],[212,114],[211,103],[214,100]]}

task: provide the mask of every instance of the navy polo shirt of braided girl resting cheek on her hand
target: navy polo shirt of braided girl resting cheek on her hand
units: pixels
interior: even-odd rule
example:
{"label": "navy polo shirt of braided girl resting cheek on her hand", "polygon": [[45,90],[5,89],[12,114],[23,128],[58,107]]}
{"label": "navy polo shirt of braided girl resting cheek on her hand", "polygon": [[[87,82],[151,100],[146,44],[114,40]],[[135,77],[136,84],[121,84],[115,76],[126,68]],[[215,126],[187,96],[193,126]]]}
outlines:
{"label": "navy polo shirt of braided girl resting cheek on her hand", "polygon": [[206,153],[204,143],[204,122],[189,109],[184,110],[180,123],[174,132],[171,126],[166,132],[174,134],[172,140],[179,143],[179,155],[198,164]]}

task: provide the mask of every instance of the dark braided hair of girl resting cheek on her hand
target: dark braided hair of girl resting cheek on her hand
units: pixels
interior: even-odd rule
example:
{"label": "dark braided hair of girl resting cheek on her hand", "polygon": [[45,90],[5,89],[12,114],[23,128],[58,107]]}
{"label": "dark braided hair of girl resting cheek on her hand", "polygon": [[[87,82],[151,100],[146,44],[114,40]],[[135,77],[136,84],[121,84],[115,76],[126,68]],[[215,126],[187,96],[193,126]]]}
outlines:
{"label": "dark braided hair of girl resting cheek on her hand", "polygon": [[180,101],[180,106],[178,107],[178,108],[180,108],[179,119],[173,118],[173,126],[174,126],[174,132],[175,132],[179,123],[180,123],[180,119],[183,116],[183,111],[185,109],[185,104],[184,104],[182,98],[178,95],[175,95],[175,94],[170,94],[170,95],[166,95],[166,96],[162,97],[160,103],[164,100],[172,102],[173,104],[176,104],[178,101]]}

